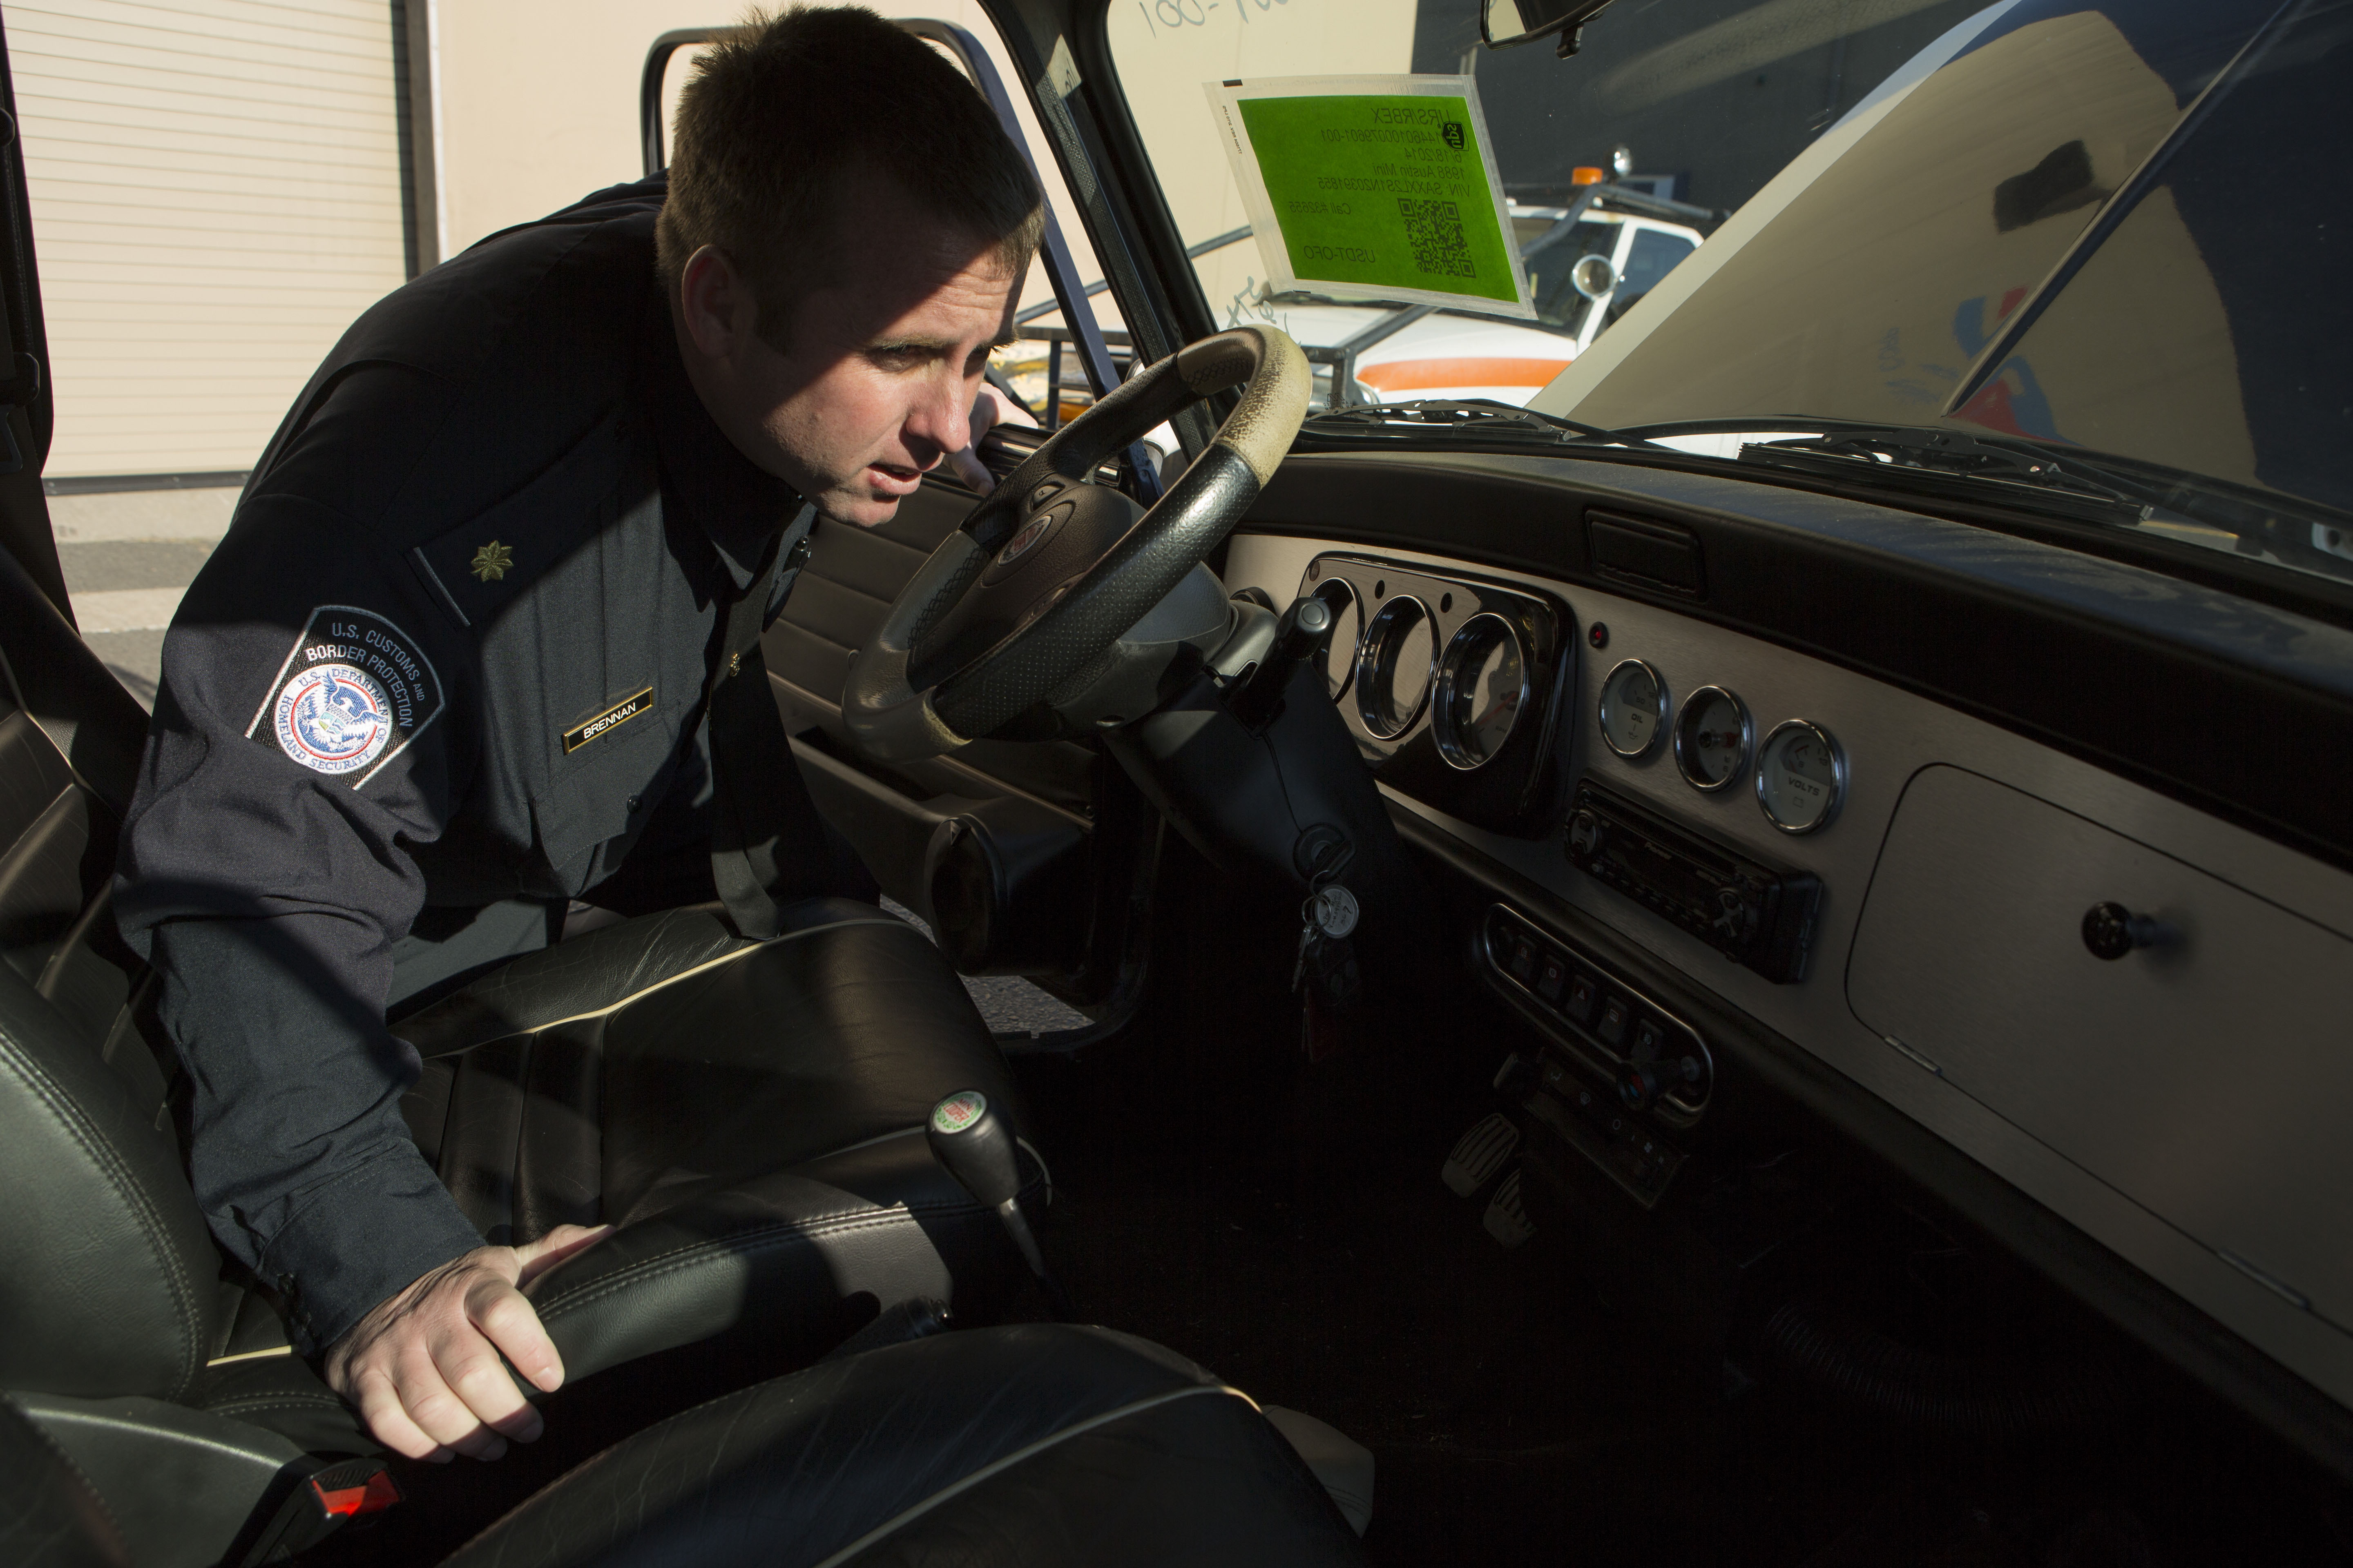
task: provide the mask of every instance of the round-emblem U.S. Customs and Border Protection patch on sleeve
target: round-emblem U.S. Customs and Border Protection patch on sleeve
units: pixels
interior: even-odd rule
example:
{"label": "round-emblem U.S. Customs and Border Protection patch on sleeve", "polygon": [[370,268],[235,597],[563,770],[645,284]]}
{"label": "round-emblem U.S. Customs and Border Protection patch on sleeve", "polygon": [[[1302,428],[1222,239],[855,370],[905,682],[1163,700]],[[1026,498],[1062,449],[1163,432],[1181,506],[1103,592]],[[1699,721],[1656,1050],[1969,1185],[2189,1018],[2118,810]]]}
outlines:
{"label": "round-emblem U.S. Customs and Border Protection patch on sleeve", "polygon": [[440,717],[442,701],[414,637],[374,611],[320,604],[245,736],[358,790]]}

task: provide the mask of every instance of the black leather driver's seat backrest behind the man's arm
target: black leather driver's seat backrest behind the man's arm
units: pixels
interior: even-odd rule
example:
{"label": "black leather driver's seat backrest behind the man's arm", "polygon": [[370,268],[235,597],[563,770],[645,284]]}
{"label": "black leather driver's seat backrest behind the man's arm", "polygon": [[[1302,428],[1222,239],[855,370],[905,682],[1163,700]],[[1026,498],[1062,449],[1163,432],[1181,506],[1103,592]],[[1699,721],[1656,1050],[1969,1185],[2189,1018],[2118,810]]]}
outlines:
{"label": "black leather driver's seat backrest behind the man's arm", "polygon": [[108,882],[146,715],[0,552],[0,1387],[179,1399],[221,1314]]}

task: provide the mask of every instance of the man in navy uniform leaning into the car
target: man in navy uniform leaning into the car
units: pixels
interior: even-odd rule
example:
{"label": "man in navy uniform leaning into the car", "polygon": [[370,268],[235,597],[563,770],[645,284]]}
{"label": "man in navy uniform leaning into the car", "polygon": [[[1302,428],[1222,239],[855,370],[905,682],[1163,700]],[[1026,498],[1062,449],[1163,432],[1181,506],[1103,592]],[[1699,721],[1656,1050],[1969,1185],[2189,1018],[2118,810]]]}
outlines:
{"label": "man in navy uniform leaning into the car", "polygon": [[344,336],[181,604],[122,832],[212,1232],[412,1458],[539,1434],[518,1284],[600,1232],[482,1244],[386,1009],[572,898],[774,936],[842,884],[758,632],[816,512],[885,522],[969,447],[1042,223],[969,82],[864,9],[718,45],[675,143]]}

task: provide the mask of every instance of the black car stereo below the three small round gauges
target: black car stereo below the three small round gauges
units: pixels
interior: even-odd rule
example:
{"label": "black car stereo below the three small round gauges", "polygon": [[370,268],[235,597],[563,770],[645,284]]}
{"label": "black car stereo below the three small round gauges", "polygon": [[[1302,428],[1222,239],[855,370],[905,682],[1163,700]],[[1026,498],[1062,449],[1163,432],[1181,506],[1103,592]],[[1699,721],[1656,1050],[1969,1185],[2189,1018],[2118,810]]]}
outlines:
{"label": "black car stereo below the three small round gauges", "polygon": [[1595,783],[1562,827],[1569,863],[1777,985],[1805,978],[1821,877],[1767,865]]}

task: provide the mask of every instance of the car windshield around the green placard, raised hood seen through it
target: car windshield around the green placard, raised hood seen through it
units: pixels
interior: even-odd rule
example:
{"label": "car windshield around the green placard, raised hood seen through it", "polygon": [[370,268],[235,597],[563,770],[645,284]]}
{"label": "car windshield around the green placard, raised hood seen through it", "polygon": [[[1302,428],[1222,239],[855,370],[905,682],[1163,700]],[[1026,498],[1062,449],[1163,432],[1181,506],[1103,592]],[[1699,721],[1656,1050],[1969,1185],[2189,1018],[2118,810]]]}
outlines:
{"label": "car windshield around the green placard, raised hood seen through it", "polygon": [[[1442,355],[1548,355],[1508,402],[1718,456],[1807,421],[2028,442],[2127,527],[2353,576],[2353,181],[2297,153],[2341,134],[2344,0],[1619,0],[1572,59],[1482,47],[1478,9],[1115,0],[1179,228],[1245,228],[1195,259],[1221,324],[1318,301],[1268,292],[1202,82],[1468,73],[1539,320],[1454,313]],[[1355,367],[1464,395],[1431,383]]]}

